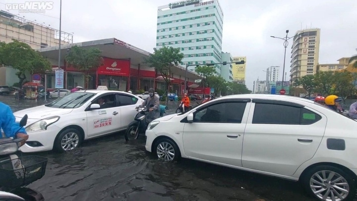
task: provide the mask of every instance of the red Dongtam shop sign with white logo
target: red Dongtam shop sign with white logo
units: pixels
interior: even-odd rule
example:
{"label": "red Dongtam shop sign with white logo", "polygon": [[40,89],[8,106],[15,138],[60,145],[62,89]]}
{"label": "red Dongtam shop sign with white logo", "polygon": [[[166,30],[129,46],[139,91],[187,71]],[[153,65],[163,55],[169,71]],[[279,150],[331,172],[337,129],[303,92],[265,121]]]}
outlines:
{"label": "red Dongtam shop sign with white logo", "polygon": [[98,68],[98,74],[129,76],[130,61],[103,58],[103,65]]}

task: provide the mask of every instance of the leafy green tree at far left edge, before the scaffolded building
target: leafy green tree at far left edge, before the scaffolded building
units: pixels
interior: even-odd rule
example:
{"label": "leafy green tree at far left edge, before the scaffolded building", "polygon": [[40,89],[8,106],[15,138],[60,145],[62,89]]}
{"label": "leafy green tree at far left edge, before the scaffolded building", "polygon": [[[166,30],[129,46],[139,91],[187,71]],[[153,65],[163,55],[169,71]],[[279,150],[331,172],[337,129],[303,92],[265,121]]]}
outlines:
{"label": "leafy green tree at far left edge, before the scaffolded building", "polygon": [[51,70],[51,63],[29,45],[12,39],[11,43],[0,42],[0,67],[13,67],[22,86],[26,73],[44,73]]}

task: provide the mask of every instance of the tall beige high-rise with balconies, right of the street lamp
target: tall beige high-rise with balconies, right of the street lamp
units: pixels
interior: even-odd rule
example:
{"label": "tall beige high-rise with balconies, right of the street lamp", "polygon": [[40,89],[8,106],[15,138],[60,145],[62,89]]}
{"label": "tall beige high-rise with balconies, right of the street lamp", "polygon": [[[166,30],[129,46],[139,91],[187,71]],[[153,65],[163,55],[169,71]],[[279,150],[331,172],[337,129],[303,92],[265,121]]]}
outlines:
{"label": "tall beige high-rise with balconies, right of the street lamp", "polygon": [[292,46],[290,81],[316,73],[320,51],[320,29],[297,31]]}

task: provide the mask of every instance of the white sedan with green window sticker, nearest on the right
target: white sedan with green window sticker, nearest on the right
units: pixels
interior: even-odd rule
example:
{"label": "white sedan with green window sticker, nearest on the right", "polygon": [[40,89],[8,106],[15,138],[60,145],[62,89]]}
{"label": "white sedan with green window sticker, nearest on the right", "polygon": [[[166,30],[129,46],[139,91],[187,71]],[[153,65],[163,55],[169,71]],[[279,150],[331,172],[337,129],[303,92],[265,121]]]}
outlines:
{"label": "white sedan with green window sticker, nearest on the right", "polygon": [[355,120],[311,100],[232,95],[151,122],[145,148],[166,161],[190,158],[300,181],[321,201],[351,201],[356,128]]}

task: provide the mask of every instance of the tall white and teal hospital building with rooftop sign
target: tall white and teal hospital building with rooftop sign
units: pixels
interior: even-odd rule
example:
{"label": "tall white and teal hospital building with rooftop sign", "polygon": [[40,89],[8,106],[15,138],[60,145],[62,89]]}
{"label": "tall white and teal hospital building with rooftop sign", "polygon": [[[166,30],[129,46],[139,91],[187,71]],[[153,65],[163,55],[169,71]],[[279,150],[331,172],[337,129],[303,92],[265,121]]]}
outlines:
{"label": "tall white and teal hospital building with rooftop sign", "polygon": [[[181,65],[221,63],[222,27],[218,0],[183,0],[159,6],[156,47],[180,48],[184,54]],[[215,68],[221,75],[221,65]]]}

